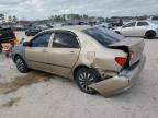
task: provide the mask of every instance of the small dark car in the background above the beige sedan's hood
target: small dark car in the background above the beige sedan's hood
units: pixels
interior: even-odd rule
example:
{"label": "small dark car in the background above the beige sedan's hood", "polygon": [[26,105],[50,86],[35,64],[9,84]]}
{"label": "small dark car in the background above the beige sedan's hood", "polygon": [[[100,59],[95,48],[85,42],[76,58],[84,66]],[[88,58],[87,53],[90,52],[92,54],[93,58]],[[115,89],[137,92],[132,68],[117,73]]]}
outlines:
{"label": "small dark car in the background above the beige sedan's hood", "polygon": [[37,33],[40,33],[42,30],[40,27],[29,27],[25,31],[26,36],[35,36]]}

